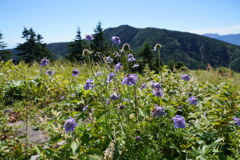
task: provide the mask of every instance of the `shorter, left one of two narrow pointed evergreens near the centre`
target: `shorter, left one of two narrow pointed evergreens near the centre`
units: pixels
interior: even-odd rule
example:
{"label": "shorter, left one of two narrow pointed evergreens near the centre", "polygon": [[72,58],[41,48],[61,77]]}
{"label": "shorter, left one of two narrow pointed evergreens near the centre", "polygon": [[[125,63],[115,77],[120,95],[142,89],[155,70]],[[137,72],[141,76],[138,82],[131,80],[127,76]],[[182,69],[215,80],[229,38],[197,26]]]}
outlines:
{"label": "shorter, left one of two narrow pointed evergreens near the centre", "polygon": [[75,36],[74,42],[70,43],[68,46],[68,51],[69,54],[66,56],[66,58],[70,61],[82,61],[83,56],[83,43],[82,43],[82,38],[81,38],[81,32],[80,29],[78,28],[77,30],[77,35]]}

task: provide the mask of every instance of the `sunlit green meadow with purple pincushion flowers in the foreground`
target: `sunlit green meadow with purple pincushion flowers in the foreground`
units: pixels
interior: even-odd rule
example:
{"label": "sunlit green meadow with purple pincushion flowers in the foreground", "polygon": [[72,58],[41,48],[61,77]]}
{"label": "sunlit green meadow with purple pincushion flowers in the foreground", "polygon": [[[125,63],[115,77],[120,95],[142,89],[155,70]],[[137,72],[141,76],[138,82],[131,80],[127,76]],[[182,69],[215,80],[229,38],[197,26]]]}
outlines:
{"label": "sunlit green meadow with purple pincushion flowers in the foreground", "polygon": [[[240,159],[240,94],[230,81],[160,65],[139,73],[134,55],[121,54],[98,64],[90,55],[82,64],[1,62],[0,159]],[[17,122],[21,136],[9,125]],[[33,143],[30,127],[47,141]]]}

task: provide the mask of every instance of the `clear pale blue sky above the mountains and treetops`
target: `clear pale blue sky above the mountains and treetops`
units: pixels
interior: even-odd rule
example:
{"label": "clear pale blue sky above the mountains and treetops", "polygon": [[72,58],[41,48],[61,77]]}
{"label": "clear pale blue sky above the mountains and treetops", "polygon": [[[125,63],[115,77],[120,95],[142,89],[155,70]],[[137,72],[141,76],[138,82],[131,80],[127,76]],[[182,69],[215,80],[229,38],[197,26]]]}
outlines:
{"label": "clear pale blue sky above the mountains and treetops", "polygon": [[128,24],[197,34],[240,33],[240,0],[0,0],[0,32],[8,48],[22,43],[23,28],[32,27],[44,42],[66,42],[80,27],[92,34]]}

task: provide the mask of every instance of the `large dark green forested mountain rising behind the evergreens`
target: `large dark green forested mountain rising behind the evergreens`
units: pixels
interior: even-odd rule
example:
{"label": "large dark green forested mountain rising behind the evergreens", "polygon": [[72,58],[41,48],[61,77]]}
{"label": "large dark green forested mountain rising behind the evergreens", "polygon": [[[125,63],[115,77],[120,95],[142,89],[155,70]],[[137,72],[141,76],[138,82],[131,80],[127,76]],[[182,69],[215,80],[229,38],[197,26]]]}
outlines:
{"label": "large dark green forested mountain rising behind the evergreens", "polygon": [[129,43],[136,50],[146,42],[152,46],[160,43],[164,46],[161,58],[165,64],[180,61],[191,69],[206,69],[210,64],[240,71],[240,47],[205,36],[157,28],[139,29],[128,25],[108,28],[104,30],[104,35],[106,39],[119,36],[122,43]]}

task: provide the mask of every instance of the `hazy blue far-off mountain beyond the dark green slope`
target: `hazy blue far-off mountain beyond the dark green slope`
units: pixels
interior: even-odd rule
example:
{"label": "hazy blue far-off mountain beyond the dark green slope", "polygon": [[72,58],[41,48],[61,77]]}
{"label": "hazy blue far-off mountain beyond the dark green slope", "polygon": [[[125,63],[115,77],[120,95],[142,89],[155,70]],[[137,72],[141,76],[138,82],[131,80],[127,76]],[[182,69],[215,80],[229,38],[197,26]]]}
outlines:
{"label": "hazy blue far-off mountain beyond the dark green slope", "polygon": [[207,33],[204,36],[240,46],[240,34],[219,35]]}

